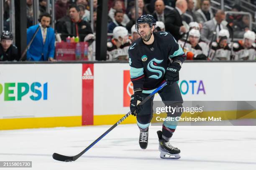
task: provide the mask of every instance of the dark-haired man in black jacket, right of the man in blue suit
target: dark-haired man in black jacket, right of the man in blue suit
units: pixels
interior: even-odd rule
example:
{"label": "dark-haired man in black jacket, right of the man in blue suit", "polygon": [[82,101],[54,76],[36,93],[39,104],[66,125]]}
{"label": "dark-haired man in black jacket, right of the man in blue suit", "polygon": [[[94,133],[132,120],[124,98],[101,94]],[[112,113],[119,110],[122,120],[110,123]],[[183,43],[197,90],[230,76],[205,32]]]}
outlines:
{"label": "dark-haired man in black jacket, right of the man in blue suit", "polygon": [[90,24],[80,19],[80,9],[74,4],[69,7],[69,17],[58,20],[56,30],[61,33],[61,40],[66,40],[68,36],[78,36],[83,41],[86,35],[92,33]]}

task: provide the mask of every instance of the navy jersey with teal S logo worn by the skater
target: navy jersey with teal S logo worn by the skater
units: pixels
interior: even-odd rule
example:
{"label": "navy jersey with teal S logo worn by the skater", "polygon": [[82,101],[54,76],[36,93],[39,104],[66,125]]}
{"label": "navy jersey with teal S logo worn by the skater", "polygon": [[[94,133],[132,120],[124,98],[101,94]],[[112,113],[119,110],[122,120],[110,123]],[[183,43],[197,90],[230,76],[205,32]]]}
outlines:
{"label": "navy jersey with teal S logo worn by the skater", "polygon": [[182,48],[169,32],[154,32],[152,36],[154,42],[151,45],[139,38],[128,50],[133,89],[141,88],[143,93],[151,93],[164,81],[169,58],[185,60]]}

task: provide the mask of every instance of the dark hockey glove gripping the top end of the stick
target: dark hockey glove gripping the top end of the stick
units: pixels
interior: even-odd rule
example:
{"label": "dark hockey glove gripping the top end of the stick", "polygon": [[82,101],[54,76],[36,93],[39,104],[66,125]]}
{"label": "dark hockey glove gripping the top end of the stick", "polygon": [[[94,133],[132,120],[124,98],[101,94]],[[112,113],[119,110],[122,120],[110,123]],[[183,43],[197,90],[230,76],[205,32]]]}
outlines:
{"label": "dark hockey glove gripping the top end of the stick", "polygon": [[179,70],[181,66],[177,62],[173,62],[169,67],[167,67],[165,78],[167,80],[167,85],[172,85],[174,82],[179,80]]}

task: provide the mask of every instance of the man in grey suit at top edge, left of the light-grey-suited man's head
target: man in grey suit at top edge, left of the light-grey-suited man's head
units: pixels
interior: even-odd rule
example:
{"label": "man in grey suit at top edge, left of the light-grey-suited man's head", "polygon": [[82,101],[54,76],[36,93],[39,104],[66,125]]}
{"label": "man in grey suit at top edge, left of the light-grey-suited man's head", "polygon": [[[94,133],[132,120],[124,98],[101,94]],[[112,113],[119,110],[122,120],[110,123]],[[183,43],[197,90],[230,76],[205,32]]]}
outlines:
{"label": "man in grey suit at top edge, left of the light-grey-suited man's head", "polygon": [[213,18],[210,0],[202,0],[201,8],[195,13],[197,23],[205,23]]}

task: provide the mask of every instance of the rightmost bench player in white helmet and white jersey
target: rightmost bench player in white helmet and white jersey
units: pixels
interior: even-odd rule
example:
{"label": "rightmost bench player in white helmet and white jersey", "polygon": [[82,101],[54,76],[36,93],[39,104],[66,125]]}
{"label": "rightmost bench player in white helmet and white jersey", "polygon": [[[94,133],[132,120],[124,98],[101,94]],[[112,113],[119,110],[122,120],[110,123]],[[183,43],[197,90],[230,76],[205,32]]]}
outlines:
{"label": "rightmost bench player in white helmet and white jersey", "polygon": [[235,60],[256,60],[255,33],[246,31],[243,35],[243,41],[240,40],[233,44]]}

